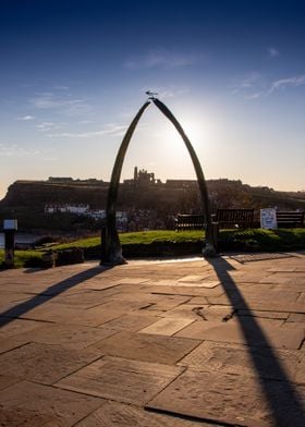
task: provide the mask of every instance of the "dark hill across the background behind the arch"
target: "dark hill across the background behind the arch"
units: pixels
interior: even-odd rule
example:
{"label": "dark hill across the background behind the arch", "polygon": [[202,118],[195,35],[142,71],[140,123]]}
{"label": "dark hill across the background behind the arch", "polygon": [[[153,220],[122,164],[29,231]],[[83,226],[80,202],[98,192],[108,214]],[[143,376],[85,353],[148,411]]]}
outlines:
{"label": "dark hill across the background behind the arch", "polygon": [[[281,210],[305,210],[305,192],[278,192],[267,186],[252,187],[241,181],[227,179],[207,181],[211,208],[277,207]],[[106,207],[109,183],[98,180],[49,179],[48,181],[16,181],[0,202],[0,219],[19,219],[22,229],[94,229],[99,222],[85,216],[46,213],[46,206],[86,205],[90,210]],[[132,216],[146,216],[143,228],[170,228],[178,212],[200,212],[196,181],[159,180],[120,184],[118,210]],[[135,213],[137,212],[137,213]]]}

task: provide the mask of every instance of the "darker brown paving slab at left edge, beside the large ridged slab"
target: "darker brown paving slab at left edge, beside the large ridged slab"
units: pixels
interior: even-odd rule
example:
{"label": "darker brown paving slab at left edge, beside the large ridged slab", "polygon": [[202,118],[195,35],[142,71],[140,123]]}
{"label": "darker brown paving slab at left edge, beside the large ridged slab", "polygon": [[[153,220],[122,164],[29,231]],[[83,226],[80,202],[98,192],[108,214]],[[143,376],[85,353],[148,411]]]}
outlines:
{"label": "darker brown paving slab at left edge, beside the large ridged slab", "polygon": [[0,375],[52,385],[101,356],[96,351],[29,343],[0,355]]}

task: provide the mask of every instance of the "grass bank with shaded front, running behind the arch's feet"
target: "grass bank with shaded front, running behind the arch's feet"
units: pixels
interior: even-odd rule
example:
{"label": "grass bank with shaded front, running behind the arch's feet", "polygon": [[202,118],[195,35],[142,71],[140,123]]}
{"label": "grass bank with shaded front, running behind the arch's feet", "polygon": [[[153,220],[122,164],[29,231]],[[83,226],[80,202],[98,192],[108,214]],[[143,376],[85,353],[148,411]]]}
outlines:
{"label": "grass bank with shaded front, running behind the arch's feet", "polygon": [[[122,233],[120,240],[126,257],[151,257],[198,255],[202,251],[204,233],[202,231],[174,232],[170,230]],[[84,249],[85,257],[98,259],[100,237],[81,239],[75,242],[53,245],[53,252]],[[280,230],[221,230],[219,251],[278,252],[305,249],[305,229]],[[16,267],[41,266],[45,249],[15,251]],[[3,263],[3,249],[0,251],[0,265]]]}

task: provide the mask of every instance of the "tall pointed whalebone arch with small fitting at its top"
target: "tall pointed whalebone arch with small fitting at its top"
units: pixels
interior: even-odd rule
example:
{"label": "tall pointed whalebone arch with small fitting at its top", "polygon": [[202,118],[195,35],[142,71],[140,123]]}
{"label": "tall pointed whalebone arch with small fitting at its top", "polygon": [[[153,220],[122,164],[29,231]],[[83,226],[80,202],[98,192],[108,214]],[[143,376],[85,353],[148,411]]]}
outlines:
{"label": "tall pointed whalebone arch with small fitting at its top", "polygon": [[[155,94],[154,94],[155,95]],[[127,129],[120,149],[118,151],[115,162],[113,166],[110,186],[108,190],[108,197],[107,197],[107,206],[106,206],[106,223],[101,230],[101,261],[100,264],[124,264],[125,259],[122,254],[122,246],[120,243],[117,225],[115,225],[115,212],[117,212],[117,199],[118,199],[118,192],[119,192],[119,184],[121,178],[121,171],[123,167],[123,161],[125,158],[125,154],[130,144],[130,141],[133,136],[133,133],[136,129],[136,125],[149,106],[150,100],[158,107],[158,109],[172,122],[179,134],[181,135],[182,139],[185,143],[185,146],[188,150],[191,159],[193,161],[193,166],[196,172],[197,182],[199,186],[199,192],[203,202],[203,211],[205,216],[206,222],[206,246],[203,249],[203,254],[205,256],[215,256],[216,248],[215,248],[215,241],[212,235],[212,228],[211,228],[211,216],[210,216],[210,206],[209,206],[209,197],[207,185],[205,181],[205,176],[203,173],[202,166],[197,158],[197,155],[185,135],[182,126],[180,125],[179,121],[172,114],[172,112],[168,109],[168,107],[161,102],[159,99],[155,97],[150,97],[148,101],[146,101],[142,108],[138,110],[137,114],[135,115],[134,120],[132,121],[130,127]]]}

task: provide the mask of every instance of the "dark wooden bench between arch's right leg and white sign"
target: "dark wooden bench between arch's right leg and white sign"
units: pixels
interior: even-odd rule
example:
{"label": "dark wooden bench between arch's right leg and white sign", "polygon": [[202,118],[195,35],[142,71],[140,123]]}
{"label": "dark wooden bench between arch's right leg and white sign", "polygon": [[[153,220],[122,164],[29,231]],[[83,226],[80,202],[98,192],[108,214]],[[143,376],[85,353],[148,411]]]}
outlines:
{"label": "dark wooden bench between arch's right leg and white sign", "polygon": [[254,209],[217,209],[212,221],[219,229],[251,229],[254,227]]}

